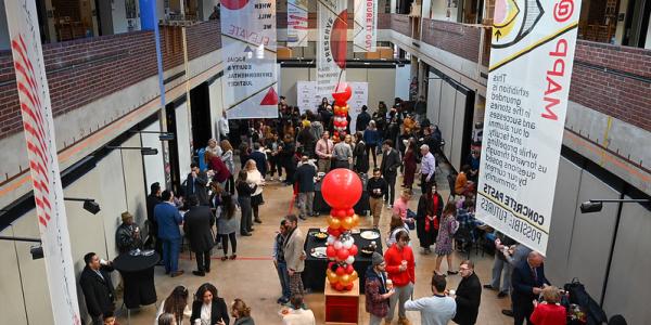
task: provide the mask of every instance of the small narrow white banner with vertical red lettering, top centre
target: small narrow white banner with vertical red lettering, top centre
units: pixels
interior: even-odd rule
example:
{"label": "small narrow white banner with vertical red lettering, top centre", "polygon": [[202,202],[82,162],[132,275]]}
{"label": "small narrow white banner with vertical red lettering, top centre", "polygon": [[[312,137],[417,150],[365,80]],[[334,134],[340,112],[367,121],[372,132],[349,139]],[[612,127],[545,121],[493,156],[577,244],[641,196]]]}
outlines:
{"label": "small narrow white banner with vertical red lettering, top centre", "polygon": [[375,52],[378,41],[378,1],[355,0],[354,52]]}

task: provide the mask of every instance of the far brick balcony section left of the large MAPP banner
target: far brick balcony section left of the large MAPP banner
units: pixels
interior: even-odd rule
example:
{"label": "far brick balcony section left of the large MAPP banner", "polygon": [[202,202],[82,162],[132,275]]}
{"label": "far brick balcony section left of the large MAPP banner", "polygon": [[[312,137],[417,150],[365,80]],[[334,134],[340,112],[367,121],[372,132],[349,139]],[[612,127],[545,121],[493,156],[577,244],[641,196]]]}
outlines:
{"label": "far brick balcony section left of the large MAPP banner", "polygon": [[477,62],[482,28],[459,23],[423,20],[422,40],[433,47]]}

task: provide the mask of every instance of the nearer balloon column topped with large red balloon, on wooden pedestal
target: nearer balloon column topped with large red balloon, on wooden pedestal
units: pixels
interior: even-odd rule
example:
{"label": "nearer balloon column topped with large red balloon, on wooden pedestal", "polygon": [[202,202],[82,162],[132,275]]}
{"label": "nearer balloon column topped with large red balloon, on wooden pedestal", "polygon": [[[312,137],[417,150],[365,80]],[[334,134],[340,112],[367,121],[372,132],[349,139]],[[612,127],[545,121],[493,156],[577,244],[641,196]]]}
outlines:
{"label": "nearer balloon column topped with large red balloon, on wooden pedestal", "polygon": [[328,263],[326,275],[330,285],[337,291],[353,289],[357,272],[353,268],[357,245],[350,230],[359,224],[359,217],[353,207],[361,197],[361,180],[349,169],[337,168],[323,178],[321,193],[332,208],[328,216]]}

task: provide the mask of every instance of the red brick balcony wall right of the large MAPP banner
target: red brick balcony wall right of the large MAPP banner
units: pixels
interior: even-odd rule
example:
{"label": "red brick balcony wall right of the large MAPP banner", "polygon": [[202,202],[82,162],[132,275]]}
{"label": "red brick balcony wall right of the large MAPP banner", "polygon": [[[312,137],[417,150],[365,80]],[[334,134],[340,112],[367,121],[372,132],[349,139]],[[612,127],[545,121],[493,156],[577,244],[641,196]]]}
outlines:
{"label": "red brick balcony wall right of the large MAPP banner", "polygon": [[651,131],[651,50],[578,40],[570,100]]}

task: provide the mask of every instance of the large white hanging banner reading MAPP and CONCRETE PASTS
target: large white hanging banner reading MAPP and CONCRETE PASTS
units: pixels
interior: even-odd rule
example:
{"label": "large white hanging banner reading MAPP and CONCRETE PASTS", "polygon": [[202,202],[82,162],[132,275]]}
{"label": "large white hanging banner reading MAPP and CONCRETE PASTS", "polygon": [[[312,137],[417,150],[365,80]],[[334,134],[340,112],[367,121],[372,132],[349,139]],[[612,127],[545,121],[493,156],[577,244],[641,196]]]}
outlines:
{"label": "large white hanging banner reading MAPP and CONCRETE PASTS", "polygon": [[497,3],[476,217],[545,255],[580,1]]}

